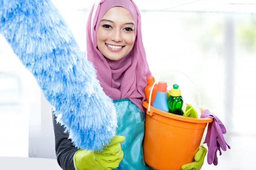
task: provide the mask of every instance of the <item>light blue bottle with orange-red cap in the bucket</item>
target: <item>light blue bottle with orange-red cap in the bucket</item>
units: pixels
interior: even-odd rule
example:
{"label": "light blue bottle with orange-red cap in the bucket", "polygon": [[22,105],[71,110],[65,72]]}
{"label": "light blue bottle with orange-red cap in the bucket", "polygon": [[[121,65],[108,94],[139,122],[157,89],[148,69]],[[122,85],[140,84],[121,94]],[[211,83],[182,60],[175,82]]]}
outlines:
{"label": "light blue bottle with orange-red cap in the bucket", "polygon": [[156,92],[156,98],[153,102],[153,107],[166,111],[169,111],[168,105],[167,105],[167,100],[166,100],[166,89],[167,89],[167,82],[164,81],[159,81],[158,82],[158,87],[157,87],[157,92]]}

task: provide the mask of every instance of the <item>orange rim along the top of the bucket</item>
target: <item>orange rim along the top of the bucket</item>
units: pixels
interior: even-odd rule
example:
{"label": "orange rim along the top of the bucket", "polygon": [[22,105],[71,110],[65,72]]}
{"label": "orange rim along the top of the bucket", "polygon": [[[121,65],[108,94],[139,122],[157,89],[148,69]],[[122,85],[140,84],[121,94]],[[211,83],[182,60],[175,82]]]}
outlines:
{"label": "orange rim along the top of the bucket", "polygon": [[[184,122],[192,122],[192,123],[209,123],[209,122],[213,122],[213,118],[189,118],[189,117],[185,117],[185,116],[180,116],[180,115],[176,115],[173,113],[169,113],[169,112],[165,112],[162,111],[160,109],[157,109],[153,106],[150,106],[150,113],[148,112],[148,106],[149,103],[145,100],[142,102],[142,106],[145,107],[147,109],[146,114],[149,116],[153,116],[155,114],[161,115],[161,116],[165,116],[167,118],[172,118],[172,119],[176,119],[176,120],[181,120]],[[202,109],[204,111],[204,109]]]}

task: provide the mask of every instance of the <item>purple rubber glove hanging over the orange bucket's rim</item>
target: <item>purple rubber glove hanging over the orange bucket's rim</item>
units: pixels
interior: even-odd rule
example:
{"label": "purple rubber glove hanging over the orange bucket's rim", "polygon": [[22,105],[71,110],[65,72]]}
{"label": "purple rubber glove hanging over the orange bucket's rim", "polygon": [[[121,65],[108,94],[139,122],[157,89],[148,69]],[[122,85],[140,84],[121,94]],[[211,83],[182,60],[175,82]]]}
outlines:
{"label": "purple rubber glove hanging over the orange bucket's rim", "polygon": [[227,147],[230,149],[223,136],[227,130],[219,118],[208,109],[202,113],[201,118],[214,118],[214,121],[208,124],[207,134],[203,144],[207,143],[208,146],[207,162],[218,165],[217,151],[219,150],[221,155],[221,149],[224,151],[227,150]]}

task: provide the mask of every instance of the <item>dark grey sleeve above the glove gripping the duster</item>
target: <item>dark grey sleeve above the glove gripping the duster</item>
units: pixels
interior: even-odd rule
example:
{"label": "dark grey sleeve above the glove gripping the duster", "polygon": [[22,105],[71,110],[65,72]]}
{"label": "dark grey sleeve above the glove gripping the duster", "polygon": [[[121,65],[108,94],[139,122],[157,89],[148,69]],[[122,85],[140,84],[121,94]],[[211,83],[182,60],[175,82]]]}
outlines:
{"label": "dark grey sleeve above the glove gripping the duster", "polygon": [[73,156],[75,155],[78,148],[73,146],[69,134],[64,133],[65,128],[56,121],[54,111],[52,111],[53,118],[53,129],[55,135],[55,151],[58,164],[63,170],[75,170],[73,164]]}

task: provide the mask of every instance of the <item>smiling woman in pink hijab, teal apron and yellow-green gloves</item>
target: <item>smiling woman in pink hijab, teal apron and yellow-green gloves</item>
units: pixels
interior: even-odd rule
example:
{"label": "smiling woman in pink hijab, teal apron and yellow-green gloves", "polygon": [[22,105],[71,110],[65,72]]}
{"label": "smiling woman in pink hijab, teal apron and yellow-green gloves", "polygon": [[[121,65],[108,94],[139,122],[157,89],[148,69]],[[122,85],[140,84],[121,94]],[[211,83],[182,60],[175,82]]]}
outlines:
{"label": "smiling woman in pink hijab, teal apron and yellow-green gloves", "polygon": [[[119,163],[125,170],[150,169],[143,157],[142,101],[146,78],[152,75],[142,44],[140,13],[134,2],[101,0],[94,4],[87,22],[87,56],[104,92],[113,99],[118,114],[116,134],[120,136],[115,136],[101,153],[78,150],[55,121],[58,163],[69,170],[111,170]],[[205,152],[201,150],[199,155],[201,160]]]}

